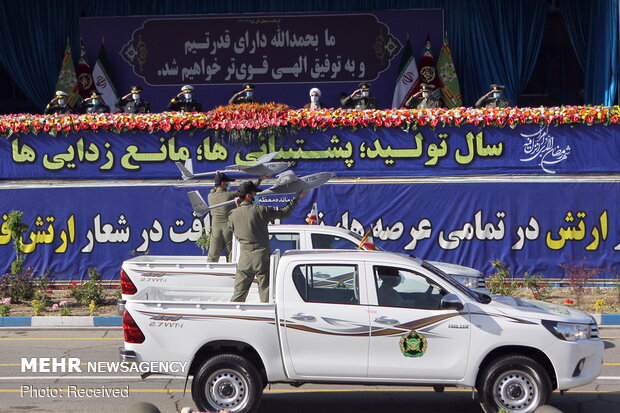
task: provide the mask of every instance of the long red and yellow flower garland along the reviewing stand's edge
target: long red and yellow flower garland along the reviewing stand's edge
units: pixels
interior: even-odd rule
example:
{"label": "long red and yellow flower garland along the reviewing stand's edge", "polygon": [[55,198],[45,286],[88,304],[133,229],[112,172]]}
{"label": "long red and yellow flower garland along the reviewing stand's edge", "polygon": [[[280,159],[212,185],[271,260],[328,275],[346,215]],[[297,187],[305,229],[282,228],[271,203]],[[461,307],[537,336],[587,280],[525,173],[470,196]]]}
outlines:
{"label": "long red and yellow flower garland along the reviewing stand's edge", "polygon": [[286,105],[241,104],[221,106],[209,112],[140,114],[0,116],[0,136],[69,133],[79,131],[170,132],[215,130],[231,139],[248,140],[257,134],[279,133],[284,128],[401,128],[474,125],[514,128],[523,124],[610,125],[620,120],[619,106],[562,106],[539,108],[434,108],[344,110],[294,110]]}

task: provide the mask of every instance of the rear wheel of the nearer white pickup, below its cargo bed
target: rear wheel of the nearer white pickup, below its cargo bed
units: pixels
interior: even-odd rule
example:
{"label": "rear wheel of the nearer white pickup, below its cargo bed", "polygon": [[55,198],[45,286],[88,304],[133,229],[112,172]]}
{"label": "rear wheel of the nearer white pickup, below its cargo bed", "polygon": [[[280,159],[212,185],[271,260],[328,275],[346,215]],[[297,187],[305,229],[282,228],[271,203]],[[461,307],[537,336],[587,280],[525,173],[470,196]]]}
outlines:
{"label": "rear wheel of the nearer white pickup, below its cargo bed", "polygon": [[236,354],[207,359],[192,380],[192,399],[199,410],[251,413],[258,408],[262,394],[258,370]]}

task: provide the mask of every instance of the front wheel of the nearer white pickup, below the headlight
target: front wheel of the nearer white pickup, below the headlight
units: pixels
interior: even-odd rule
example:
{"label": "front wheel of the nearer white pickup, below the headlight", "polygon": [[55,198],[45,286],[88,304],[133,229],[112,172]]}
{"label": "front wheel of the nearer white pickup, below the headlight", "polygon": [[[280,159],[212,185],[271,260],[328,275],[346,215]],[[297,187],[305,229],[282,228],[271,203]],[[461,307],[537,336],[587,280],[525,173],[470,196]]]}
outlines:
{"label": "front wheel of the nearer white pickup, below the headlight", "polygon": [[478,382],[480,405],[486,413],[499,409],[531,413],[551,397],[551,380],[535,360],[518,355],[489,364]]}

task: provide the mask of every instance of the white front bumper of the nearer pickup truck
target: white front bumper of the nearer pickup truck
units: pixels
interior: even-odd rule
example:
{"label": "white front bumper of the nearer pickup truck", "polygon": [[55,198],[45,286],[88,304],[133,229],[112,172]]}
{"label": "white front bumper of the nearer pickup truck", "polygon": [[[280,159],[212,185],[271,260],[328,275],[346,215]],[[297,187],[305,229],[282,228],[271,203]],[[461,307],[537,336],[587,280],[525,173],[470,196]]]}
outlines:
{"label": "white front bumper of the nearer pickup truck", "polygon": [[603,369],[605,345],[601,340],[557,340],[545,352],[555,368],[558,390],[591,383]]}

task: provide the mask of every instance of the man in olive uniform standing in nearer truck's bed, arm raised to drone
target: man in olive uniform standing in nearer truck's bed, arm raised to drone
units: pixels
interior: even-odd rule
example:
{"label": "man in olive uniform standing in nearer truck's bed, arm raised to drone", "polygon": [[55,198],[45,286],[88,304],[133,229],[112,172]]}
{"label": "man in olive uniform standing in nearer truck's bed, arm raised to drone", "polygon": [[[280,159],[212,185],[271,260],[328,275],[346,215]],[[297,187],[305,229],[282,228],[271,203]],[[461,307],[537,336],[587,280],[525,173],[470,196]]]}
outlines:
{"label": "man in olive uniform standing in nearer truck's bed, arm raised to drone", "polygon": [[252,181],[239,186],[239,206],[228,216],[228,224],[239,240],[241,253],[235,276],[235,292],[230,301],[245,301],[254,277],[258,279],[258,294],[263,303],[269,301],[269,221],[287,218],[297,201],[305,196],[300,192],[283,208],[258,205],[258,187]]}

